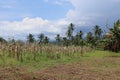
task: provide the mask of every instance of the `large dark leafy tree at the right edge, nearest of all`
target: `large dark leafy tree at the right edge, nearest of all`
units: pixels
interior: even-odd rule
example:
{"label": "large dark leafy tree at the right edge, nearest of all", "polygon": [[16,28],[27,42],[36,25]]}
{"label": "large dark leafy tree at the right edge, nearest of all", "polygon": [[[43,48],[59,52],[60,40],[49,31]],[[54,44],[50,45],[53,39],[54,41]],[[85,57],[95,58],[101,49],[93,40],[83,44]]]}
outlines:
{"label": "large dark leafy tree at the right edge, nearest of all", "polygon": [[107,34],[108,39],[106,41],[105,48],[113,52],[119,52],[120,51],[120,20],[117,20],[114,23],[113,28],[109,29],[108,34]]}

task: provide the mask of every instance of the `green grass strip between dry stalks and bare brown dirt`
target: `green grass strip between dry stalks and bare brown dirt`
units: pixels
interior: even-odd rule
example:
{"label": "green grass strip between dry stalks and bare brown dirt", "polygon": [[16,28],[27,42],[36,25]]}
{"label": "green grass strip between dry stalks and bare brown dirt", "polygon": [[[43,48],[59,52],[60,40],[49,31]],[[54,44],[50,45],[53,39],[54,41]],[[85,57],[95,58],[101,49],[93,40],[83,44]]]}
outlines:
{"label": "green grass strip between dry stalks and bare brown dirt", "polygon": [[[52,59],[46,57],[46,54],[40,54],[37,53],[36,61],[33,60],[32,54],[23,55],[23,62],[18,61],[15,58],[10,58],[8,55],[0,56],[0,66],[6,67],[6,66],[21,66],[21,67],[27,67],[28,70],[38,70],[47,68],[50,66],[54,66],[61,63],[74,63],[74,62],[86,62],[91,61],[91,65],[94,65],[95,67],[99,67],[99,65],[103,65],[102,67],[119,67],[120,64],[112,63],[110,60],[107,60],[107,58],[119,58],[119,53],[113,53],[109,51],[93,51],[89,53],[84,53],[83,56],[81,56],[80,53],[74,53],[74,56],[66,56],[64,54],[60,55],[60,58],[58,59]],[[106,61],[103,61],[102,63],[96,60],[98,59],[106,59]],[[118,63],[118,62],[117,62]]]}

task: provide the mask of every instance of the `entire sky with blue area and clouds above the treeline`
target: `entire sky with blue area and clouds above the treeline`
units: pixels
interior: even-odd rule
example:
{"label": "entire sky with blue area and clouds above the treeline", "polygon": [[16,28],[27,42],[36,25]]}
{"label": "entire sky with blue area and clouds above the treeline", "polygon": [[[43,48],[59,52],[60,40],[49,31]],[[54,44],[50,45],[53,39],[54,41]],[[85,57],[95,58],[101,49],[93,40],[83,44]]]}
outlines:
{"label": "entire sky with blue area and clouds above the treeline", "polygon": [[0,0],[0,36],[26,39],[44,33],[65,36],[70,23],[76,31],[91,31],[120,19],[120,0]]}

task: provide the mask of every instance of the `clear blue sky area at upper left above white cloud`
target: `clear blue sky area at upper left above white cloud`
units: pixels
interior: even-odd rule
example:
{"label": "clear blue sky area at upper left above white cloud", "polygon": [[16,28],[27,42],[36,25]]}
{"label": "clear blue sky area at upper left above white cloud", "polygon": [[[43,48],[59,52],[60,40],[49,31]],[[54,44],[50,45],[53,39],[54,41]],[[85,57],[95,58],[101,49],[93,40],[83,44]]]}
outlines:
{"label": "clear blue sky area at upper left above white cloud", "polygon": [[25,17],[42,17],[54,20],[64,18],[67,11],[72,8],[69,1],[57,0],[0,0],[0,20],[22,20]]}

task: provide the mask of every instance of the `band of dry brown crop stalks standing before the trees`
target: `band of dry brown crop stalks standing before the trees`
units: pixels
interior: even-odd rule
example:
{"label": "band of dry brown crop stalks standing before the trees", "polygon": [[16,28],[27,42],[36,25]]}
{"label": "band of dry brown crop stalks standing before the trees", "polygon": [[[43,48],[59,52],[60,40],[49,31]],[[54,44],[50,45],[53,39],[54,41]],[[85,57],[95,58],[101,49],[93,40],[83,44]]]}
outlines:
{"label": "band of dry brown crop stalks standing before the trees", "polygon": [[23,55],[29,56],[33,55],[31,58],[36,60],[37,54],[46,54],[46,57],[51,59],[59,59],[61,54],[66,56],[74,56],[74,53],[83,53],[91,52],[93,49],[89,47],[63,47],[55,45],[37,45],[37,44],[2,44],[0,46],[0,55],[4,56],[7,54],[9,57],[16,58],[18,61],[23,62],[25,57]]}

